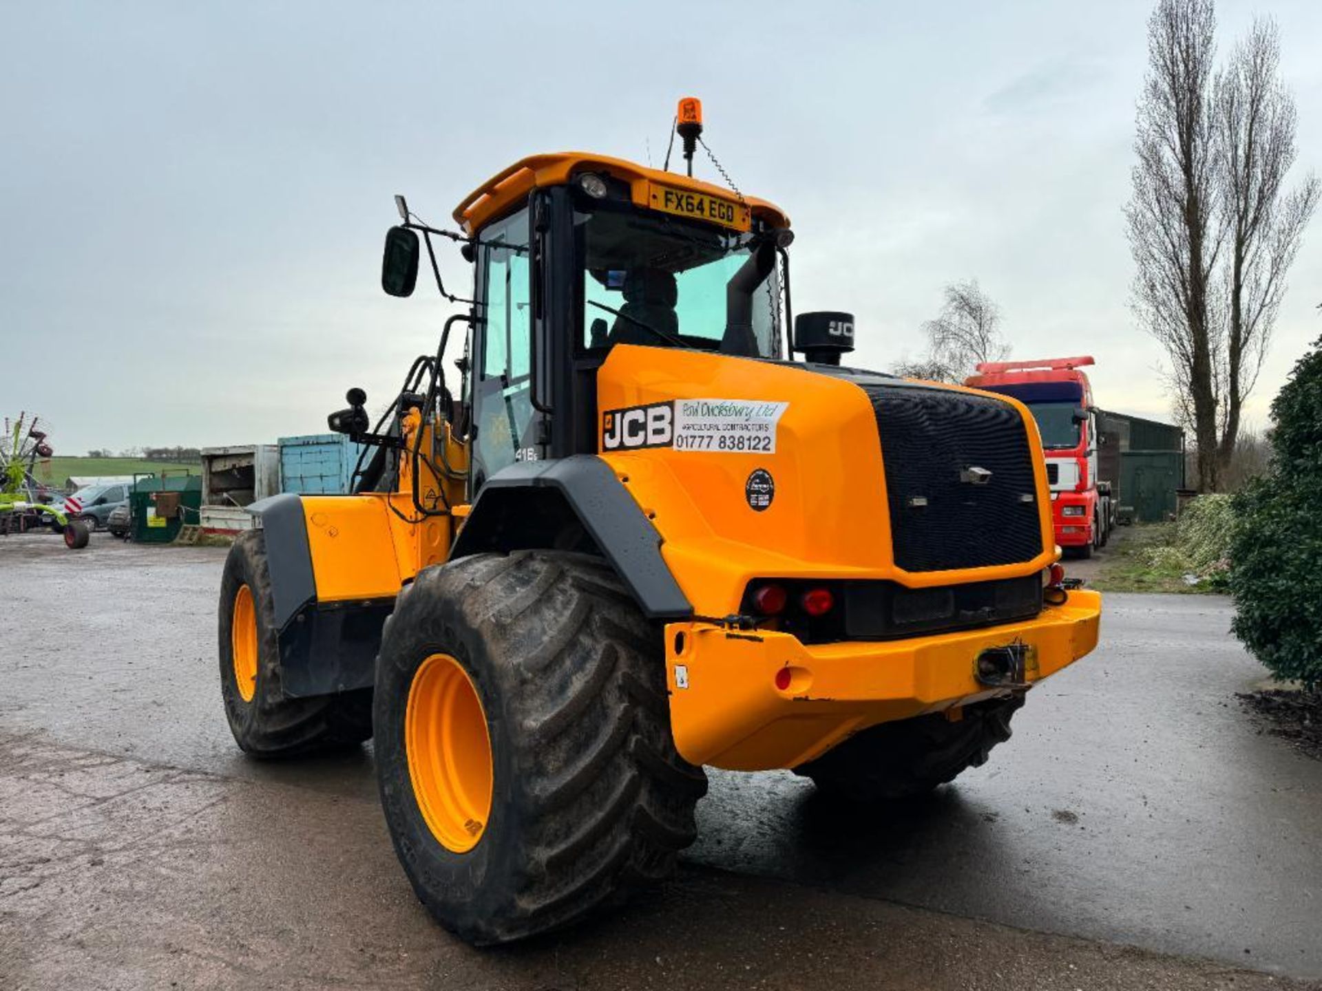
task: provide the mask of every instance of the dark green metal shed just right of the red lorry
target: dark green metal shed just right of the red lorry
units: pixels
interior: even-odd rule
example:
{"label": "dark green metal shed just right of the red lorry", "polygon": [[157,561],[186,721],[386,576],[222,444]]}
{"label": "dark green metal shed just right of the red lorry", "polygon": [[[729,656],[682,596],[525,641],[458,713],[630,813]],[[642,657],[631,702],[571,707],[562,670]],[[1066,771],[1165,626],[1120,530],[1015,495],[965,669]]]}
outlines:
{"label": "dark green metal shed just right of the red lorry", "polygon": [[1175,514],[1185,488],[1185,431],[1144,416],[1099,410],[1097,469],[1116,486],[1121,519],[1157,523]]}

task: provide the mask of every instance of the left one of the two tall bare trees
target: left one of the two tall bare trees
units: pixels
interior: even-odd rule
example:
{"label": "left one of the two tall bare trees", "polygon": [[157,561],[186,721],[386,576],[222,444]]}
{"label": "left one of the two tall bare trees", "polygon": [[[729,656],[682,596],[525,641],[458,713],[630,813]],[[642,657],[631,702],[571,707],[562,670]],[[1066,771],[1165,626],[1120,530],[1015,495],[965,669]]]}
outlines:
{"label": "left one of the two tall bare trees", "polygon": [[1177,406],[1194,429],[1203,490],[1216,489],[1219,321],[1212,274],[1220,231],[1207,99],[1215,28],[1211,0],[1158,0],[1147,21],[1138,161],[1125,207],[1138,266],[1134,313],[1170,357]]}

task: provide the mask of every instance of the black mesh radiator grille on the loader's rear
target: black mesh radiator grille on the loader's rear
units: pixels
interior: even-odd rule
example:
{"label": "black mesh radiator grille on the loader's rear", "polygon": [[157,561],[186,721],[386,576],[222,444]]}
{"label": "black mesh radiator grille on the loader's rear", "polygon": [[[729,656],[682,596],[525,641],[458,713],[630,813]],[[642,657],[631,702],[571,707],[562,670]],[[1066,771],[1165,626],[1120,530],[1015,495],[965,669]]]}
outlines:
{"label": "black mesh radiator grille on the loader's rear", "polygon": [[861,387],[876,414],[899,567],[980,568],[1042,552],[1029,433],[1013,406],[944,388]]}

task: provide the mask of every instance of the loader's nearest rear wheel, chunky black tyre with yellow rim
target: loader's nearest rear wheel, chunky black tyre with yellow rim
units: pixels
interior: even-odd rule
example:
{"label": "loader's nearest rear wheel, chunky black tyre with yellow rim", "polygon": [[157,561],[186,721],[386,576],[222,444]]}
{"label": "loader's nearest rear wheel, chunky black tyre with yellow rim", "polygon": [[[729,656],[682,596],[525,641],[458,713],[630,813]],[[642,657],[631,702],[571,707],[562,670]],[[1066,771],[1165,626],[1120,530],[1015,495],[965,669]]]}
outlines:
{"label": "loader's nearest rear wheel, chunky black tyre with yellow rim", "polygon": [[707,780],[676,753],[658,630],[596,558],[481,554],[399,593],[377,781],[443,926],[521,939],[673,871]]}

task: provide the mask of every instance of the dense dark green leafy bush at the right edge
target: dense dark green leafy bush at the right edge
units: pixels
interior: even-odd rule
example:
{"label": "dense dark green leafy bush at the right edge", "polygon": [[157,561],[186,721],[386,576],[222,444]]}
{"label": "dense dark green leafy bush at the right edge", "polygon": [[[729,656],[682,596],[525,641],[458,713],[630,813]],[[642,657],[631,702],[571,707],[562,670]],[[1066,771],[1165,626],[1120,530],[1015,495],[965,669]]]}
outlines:
{"label": "dense dark green leafy bush at the right edge", "polygon": [[1272,403],[1272,472],[1232,497],[1235,634],[1277,678],[1322,684],[1322,338]]}

